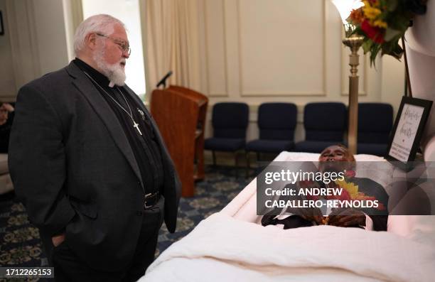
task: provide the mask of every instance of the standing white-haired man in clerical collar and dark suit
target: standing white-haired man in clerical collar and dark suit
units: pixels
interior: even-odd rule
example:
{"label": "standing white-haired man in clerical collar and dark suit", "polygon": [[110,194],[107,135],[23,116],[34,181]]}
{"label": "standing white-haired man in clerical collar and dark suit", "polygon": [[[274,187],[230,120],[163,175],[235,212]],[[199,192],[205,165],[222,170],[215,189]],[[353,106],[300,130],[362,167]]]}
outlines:
{"label": "standing white-haired man in clerical collar and dark suit", "polygon": [[77,28],[76,58],[18,92],[9,166],[57,281],[136,281],[159,228],[176,228],[180,184],[159,130],[124,84],[124,24]]}

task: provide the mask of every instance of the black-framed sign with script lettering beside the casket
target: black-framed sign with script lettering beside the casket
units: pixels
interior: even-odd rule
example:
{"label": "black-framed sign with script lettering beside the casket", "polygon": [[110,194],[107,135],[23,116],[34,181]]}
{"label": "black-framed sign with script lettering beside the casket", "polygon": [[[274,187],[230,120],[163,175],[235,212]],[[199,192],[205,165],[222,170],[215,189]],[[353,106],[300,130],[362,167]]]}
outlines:
{"label": "black-framed sign with script lettering beside the casket", "polygon": [[399,161],[404,166],[414,161],[431,106],[429,100],[402,97],[388,143],[387,160]]}

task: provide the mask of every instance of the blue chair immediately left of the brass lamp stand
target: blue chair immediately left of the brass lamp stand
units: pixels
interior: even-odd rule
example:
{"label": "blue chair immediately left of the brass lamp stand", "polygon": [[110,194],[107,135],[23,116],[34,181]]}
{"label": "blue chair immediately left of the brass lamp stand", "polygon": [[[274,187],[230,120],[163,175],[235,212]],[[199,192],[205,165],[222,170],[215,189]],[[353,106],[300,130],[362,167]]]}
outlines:
{"label": "blue chair immediately left of the brass lamp stand", "polygon": [[321,153],[324,148],[345,143],[343,136],[347,124],[343,103],[308,103],[304,108],[305,141],[296,143],[298,152]]}

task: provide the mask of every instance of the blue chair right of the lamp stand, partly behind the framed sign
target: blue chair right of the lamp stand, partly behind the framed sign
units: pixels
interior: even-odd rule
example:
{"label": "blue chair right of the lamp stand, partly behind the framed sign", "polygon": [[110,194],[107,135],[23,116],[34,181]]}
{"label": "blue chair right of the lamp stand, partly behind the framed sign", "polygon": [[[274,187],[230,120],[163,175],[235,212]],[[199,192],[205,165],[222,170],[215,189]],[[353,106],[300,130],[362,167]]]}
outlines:
{"label": "blue chair right of the lamp stand, partly behind the framed sign", "polygon": [[358,104],[358,153],[385,156],[393,123],[390,104]]}

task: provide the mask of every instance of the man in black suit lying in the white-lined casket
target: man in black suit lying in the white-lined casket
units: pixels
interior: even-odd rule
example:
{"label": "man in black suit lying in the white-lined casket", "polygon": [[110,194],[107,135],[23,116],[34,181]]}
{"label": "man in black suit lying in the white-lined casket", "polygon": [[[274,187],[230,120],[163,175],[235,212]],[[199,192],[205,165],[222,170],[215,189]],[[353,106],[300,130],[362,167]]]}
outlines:
{"label": "man in black suit lying in the white-lined casket", "polygon": [[[322,172],[339,172],[343,170],[350,172],[353,170],[355,158],[345,146],[334,145],[325,148],[321,152],[318,161],[318,170]],[[388,195],[379,183],[368,178],[356,178],[355,175],[348,175],[348,180],[354,185],[358,185],[359,192],[374,196],[380,201],[382,207],[386,209],[388,205]],[[319,185],[318,183],[314,184]],[[331,183],[331,185],[335,185],[335,183]],[[341,208],[333,210],[327,219],[323,217],[319,209],[299,209],[297,215],[284,216],[284,219],[276,216],[277,213],[279,213],[279,211],[274,210],[264,215],[264,217],[262,217],[262,225],[283,224],[284,229],[290,229],[325,224],[326,220],[328,220],[328,224],[337,227],[361,227],[368,230],[387,231],[388,216],[386,215],[386,210]]]}

